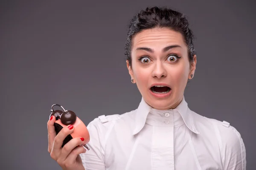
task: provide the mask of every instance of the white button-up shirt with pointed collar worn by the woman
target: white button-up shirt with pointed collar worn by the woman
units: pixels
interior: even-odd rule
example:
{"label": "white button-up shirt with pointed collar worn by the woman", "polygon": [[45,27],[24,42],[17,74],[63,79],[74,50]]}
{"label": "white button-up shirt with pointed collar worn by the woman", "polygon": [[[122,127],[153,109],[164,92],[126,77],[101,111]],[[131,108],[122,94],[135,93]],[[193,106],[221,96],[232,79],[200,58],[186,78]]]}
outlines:
{"label": "white button-up shirt with pointed collar worn by the woman", "polygon": [[87,128],[86,170],[246,170],[240,133],[191,111],[184,96],[166,111],[142,98],[136,110],[99,116]]}

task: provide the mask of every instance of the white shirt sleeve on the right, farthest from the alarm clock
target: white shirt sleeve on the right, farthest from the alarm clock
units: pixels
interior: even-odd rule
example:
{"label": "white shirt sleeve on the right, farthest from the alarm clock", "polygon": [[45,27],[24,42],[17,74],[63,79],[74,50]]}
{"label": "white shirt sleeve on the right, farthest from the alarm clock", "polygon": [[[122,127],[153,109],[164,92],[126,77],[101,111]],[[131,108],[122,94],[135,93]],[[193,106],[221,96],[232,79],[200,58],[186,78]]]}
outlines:
{"label": "white shirt sleeve on the right, farthest from the alarm clock", "polygon": [[246,170],[246,151],[240,133],[233,126],[220,130],[223,170]]}

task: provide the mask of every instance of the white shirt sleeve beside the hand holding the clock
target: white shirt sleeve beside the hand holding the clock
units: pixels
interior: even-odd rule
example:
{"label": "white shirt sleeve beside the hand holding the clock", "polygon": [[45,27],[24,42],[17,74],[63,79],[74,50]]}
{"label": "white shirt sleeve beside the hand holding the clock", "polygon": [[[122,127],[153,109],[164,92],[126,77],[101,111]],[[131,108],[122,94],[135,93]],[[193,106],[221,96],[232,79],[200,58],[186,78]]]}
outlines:
{"label": "white shirt sleeve beside the hand holding the clock", "polygon": [[105,127],[98,118],[94,119],[87,125],[87,129],[90,134],[90,141],[87,143],[86,153],[81,153],[81,159],[85,170],[105,170],[104,161],[104,134]]}

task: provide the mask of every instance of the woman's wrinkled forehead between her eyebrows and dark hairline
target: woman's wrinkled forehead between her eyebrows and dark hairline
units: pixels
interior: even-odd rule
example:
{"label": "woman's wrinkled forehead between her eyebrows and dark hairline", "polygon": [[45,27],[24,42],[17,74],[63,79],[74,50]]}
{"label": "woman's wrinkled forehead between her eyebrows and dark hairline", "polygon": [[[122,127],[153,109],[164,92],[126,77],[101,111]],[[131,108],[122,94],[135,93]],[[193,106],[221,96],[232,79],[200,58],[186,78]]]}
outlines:
{"label": "woman's wrinkled forehead between her eyebrows and dark hairline", "polygon": [[180,45],[186,48],[182,34],[169,28],[145,29],[134,36],[133,48],[163,48],[166,45]]}

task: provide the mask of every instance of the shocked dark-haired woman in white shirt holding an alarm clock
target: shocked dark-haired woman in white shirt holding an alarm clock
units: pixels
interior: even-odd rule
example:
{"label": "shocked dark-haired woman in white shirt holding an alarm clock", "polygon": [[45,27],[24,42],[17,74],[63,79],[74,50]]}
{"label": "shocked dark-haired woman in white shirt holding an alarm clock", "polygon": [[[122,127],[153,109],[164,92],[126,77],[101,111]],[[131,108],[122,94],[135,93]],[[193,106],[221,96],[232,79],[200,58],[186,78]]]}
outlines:
{"label": "shocked dark-haired woman in white shirt holding an alarm clock", "polygon": [[65,170],[245,170],[239,132],[228,122],[191,111],[183,96],[195,75],[193,34],[186,17],[167,8],[147,8],[131,20],[125,45],[131,82],[142,99],[136,110],[99,116],[81,139],[61,142],[49,120],[49,153]]}

